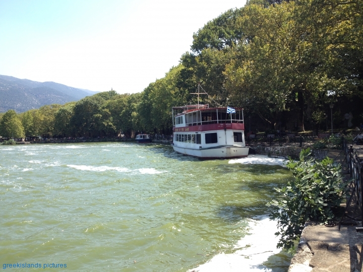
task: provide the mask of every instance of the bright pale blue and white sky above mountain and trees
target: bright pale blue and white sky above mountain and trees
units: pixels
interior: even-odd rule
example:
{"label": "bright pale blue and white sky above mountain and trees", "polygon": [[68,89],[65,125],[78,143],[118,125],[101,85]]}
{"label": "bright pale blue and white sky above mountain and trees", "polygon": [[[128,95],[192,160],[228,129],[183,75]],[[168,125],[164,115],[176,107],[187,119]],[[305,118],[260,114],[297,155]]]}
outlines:
{"label": "bright pale blue and white sky above mountain and trees", "polygon": [[246,1],[0,1],[0,75],[141,92],[190,50],[193,33]]}

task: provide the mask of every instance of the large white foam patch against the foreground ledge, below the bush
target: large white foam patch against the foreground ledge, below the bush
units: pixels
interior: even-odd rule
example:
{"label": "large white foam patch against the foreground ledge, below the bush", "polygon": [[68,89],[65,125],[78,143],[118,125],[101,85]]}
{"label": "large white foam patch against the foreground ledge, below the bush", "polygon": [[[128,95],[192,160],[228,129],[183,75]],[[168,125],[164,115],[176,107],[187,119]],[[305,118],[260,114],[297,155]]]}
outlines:
{"label": "large white foam patch against the foreground ledge, below the bush", "polygon": [[250,231],[235,245],[238,249],[234,253],[219,253],[210,261],[188,271],[272,271],[262,263],[281,251],[276,248],[279,237],[274,234],[277,231],[277,222],[271,221],[267,216],[248,221]]}

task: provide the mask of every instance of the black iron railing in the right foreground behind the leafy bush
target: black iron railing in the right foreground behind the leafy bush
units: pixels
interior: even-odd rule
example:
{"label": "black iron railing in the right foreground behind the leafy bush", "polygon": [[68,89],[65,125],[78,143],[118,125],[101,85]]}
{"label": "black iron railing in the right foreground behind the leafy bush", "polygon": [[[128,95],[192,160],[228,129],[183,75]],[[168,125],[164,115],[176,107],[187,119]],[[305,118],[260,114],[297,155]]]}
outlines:
{"label": "black iron railing in the right foreground behind the leafy bush", "polygon": [[[343,151],[345,161],[348,165],[348,171],[351,178],[350,186],[352,191],[347,202],[344,214],[350,206],[350,202],[355,194],[355,201],[361,211],[362,227],[363,227],[363,158],[359,157],[359,153],[363,150],[358,146],[349,145],[347,141],[343,140]],[[351,218],[354,219],[354,218]],[[342,220],[339,222],[339,230]],[[361,228],[359,228],[361,229]],[[358,230],[357,230],[358,231]],[[360,230],[361,231],[361,230]]]}

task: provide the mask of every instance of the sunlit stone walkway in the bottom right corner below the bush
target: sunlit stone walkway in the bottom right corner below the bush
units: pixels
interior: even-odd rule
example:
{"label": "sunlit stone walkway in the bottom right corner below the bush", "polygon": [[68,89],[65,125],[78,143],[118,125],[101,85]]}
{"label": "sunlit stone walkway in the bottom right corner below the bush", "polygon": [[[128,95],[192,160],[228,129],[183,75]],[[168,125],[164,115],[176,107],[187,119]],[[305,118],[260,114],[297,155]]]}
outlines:
{"label": "sunlit stone walkway in the bottom right corner below the bush", "polygon": [[[339,150],[330,151],[328,156],[340,163],[344,161],[344,155]],[[346,173],[344,167],[342,172]],[[306,224],[288,271],[360,272],[363,233],[355,230],[356,226],[361,226],[361,213],[355,199],[351,201],[347,215],[359,221],[344,217],[345,225],[340,227],[340,231],[338,226],[327,227],[314,222]]]}

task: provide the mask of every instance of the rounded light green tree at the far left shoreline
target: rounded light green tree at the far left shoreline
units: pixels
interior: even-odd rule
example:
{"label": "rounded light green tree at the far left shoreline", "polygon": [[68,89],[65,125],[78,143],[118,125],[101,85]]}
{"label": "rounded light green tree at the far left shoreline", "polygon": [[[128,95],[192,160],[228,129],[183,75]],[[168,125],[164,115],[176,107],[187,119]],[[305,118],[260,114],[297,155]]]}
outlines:
{"label": "rounded light green tree at the far left shoreline", "polygon": [[24,138],[24,127],[15,110],[8,110],[0,122],[0,132],[6,138]]}

